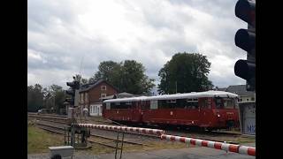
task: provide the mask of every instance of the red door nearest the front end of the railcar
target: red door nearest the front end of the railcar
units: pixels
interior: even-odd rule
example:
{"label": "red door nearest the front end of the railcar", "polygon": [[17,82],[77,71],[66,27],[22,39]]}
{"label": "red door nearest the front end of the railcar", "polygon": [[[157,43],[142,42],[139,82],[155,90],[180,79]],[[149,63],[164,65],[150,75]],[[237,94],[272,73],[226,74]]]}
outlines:
{"label": "red door nearest the front end of the railcar", "polygon": [[211,98],[199,98],[199,126],[209,127],[211,125]]}

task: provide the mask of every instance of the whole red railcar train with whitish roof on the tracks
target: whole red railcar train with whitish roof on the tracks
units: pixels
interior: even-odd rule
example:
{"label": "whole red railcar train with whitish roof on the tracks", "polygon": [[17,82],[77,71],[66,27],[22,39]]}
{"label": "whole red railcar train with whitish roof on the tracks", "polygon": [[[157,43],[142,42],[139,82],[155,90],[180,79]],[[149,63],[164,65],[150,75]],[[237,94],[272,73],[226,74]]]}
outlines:
{"label": "whole red railcar train with whitish roof on the tracks", "polygon": [[237,97],[207,91],[112,99],[103,102],[103,117],[137,124],[226,128],[239,125]]}

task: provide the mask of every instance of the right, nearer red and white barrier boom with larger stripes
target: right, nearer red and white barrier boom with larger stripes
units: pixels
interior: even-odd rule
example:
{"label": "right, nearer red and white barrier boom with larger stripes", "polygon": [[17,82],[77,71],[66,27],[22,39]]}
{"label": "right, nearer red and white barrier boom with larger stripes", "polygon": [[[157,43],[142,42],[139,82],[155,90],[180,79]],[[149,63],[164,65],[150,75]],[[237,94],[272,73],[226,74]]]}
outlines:
{"label": "right, nearer red and white barrier boom with larger stripes", "polygon": [[190,143],[190,144],[201,146],[201,147],[216,148],[216,149],[222,149],[222,150],[239,153],[243,155],[256,156],[256,148],[246,147],[246,146],[241,146],[241,145],[227,144],[223,142],[216,142],[216,141],[210,141],[210,140],[199,140],[199,139],[166,135],[166,134],[161,134],[161,139],[171,140],[171,141],[180,141],[180,142]]}

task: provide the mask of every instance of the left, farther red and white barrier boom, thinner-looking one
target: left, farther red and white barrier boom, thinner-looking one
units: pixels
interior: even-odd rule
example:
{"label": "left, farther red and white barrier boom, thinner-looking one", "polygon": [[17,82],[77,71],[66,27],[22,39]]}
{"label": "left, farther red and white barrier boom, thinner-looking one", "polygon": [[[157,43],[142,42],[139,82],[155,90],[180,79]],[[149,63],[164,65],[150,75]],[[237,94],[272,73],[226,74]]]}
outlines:
{"label": "left, farther red and white barrier boom, thinner-looking one", "polygon": [[159,130],[159,129],[148,129],[148,128],[116,126],[116,125],[78,124],[78,126],[103,129],[103,130],[119,130],[119,131],[134,132],[134,133],[157,134],[158,136],[164,133],[164,130]]}

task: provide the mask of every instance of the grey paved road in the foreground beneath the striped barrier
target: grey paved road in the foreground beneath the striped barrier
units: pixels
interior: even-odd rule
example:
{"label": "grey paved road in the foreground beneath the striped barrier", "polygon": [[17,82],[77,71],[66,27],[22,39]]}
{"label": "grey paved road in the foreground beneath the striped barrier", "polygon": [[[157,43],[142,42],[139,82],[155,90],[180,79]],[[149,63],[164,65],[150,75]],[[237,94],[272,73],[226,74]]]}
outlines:
{"label": "grey paved road in the foreground beneath the striped barrier", "polygon": [[[255,144],[244,144],[255,147]],[[27,155],[28,159],[42,158],[49,159],[49,154]],[[114,154],[88,155],[75,153],[73,159],[109,159],[115,158]],[[118,155],[119,158],[119,155]],[[255,156],[240,155],[237,153],[226,153],[226,151],[213,148],[180,148],[180,149],[162,149],[146,152],[123,153],[123,159],[255,159]]]}

